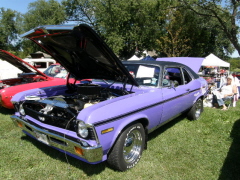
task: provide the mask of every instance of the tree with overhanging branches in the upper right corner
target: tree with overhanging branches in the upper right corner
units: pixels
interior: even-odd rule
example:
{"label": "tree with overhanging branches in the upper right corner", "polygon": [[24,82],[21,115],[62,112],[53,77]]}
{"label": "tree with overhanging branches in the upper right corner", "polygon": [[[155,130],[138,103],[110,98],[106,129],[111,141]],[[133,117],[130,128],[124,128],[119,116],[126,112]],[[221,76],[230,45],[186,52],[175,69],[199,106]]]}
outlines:
{"label": "tree with overhanging branches in the upper right corner", "polygon": [[[234,48],[240,54],[240,43],[238,41],[239,26],[239,0],[180,0],[192,12],[203,16],[208,20],[214,19],[218,24],[218,30],[224,33]],[[226,52],[226,53],[232,53]]]}

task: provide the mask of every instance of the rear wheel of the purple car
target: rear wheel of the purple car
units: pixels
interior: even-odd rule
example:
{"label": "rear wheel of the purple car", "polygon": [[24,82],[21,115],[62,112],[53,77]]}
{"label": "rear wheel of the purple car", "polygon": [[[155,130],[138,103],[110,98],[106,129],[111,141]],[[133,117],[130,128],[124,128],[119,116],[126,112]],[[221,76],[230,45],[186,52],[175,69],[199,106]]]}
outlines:
{"label": "rear wheel of the purple car", "polygon": [[199,98],[187,114],[188,119],[198,120],[203,112],[203,101]]}

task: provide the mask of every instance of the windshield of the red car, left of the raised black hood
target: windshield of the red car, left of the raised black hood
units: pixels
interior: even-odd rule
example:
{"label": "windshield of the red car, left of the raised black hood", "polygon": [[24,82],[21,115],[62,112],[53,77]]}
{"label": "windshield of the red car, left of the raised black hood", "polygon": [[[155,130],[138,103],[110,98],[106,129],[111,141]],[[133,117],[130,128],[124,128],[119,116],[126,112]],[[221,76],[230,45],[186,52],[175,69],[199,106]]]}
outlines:
{"label": "windshield of the red car, left of the raised black hood", "polygon": [[68,74],[67,70],[59,64],[52,64],[43,73],[47,76],[63,79],[65,79]]}

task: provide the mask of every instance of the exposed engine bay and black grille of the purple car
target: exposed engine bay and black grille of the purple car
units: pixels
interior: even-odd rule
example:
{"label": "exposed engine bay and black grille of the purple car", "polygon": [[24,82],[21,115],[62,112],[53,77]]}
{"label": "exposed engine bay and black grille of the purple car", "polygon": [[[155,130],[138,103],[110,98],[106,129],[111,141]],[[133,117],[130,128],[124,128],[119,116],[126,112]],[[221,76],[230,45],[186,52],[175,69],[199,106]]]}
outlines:
{"label": "exposed engine bay and black grille of the purple car", "polygon": [[26,96],[19,111],[24,109],[25,115],[43,123],[73,130],[75,128],[74,119],[81,110],[130,93],[122,89],[101,87],[96,84],[75,86],[75,92],[72,94],[66,93],[46,98]]}

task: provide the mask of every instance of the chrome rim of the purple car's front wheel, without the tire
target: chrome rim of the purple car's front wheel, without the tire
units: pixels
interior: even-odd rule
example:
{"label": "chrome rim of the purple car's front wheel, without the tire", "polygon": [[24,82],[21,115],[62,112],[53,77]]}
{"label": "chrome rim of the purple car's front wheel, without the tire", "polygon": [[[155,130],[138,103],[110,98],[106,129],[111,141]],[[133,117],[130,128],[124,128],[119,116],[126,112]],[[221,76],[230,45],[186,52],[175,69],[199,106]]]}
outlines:
{"label": "chrome rim of the purple car's front wheel, without the tire", "polygon": [[142,149],[142,135],[139,130],[131,131],[124,142],[123,157],[127,163],[132,163],[139,158]]}

